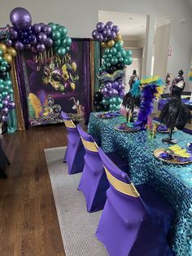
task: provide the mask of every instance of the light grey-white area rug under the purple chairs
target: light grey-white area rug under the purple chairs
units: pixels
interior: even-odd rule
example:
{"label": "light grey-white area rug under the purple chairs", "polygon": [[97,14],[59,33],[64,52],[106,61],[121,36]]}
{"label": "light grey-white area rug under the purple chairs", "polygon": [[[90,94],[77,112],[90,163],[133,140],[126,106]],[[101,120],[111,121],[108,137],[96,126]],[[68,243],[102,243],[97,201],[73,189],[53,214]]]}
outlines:
{"label": "light grey-white area rug under the purple chairs", "polygon": [[66,256],[105,256],[107,250],[95,232],[102,211],[88,213],[85,197],[77,190],[80,174],[68,174],[63,163],[66,147],[45,149]]}

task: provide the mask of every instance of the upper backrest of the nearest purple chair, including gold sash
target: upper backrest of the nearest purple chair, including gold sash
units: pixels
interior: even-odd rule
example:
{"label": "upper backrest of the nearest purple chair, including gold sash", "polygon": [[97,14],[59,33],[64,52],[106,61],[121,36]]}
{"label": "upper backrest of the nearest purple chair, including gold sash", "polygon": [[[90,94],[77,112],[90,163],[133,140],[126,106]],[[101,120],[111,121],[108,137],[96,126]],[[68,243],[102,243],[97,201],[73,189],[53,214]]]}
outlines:
{"label": "upper backrest of the nearest purple chair, including gold sash", "polygon": [[118,194],[132,196],[140,200],[140,195],[133,183],[130,181],[128,174],[120,170],[103,152],[102,148],[98,148],[99,155],[103,161],[104,170],[111,188]]}

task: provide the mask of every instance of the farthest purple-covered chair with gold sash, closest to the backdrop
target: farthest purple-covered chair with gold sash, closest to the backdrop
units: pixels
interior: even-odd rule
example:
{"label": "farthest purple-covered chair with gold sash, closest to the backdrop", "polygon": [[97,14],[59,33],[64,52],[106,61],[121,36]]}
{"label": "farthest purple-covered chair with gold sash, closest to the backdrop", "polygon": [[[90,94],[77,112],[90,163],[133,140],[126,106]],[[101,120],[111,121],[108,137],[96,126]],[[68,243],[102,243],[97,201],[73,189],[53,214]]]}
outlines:
{"label": "farthest purple-covered chair with gold sash, closest to the backdrop", "polygon": [[63,161],[68,163],[68,174],[76,174],[83,170],[85,150],[76,125],[68,114],[61,112],[61,115],[68,130],[68,147]]}

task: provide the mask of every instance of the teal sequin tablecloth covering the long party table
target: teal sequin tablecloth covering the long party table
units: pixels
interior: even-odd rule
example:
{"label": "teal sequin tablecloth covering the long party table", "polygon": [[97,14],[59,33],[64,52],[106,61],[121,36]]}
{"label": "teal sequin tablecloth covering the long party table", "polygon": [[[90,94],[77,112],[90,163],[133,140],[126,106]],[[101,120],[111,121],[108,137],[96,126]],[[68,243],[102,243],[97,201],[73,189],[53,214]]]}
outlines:
{"label": "teal sequin tablecloth covering the long party table", "polygon": [[[162,139],[168,135],[158,133],[156,139],[148,139],[146,130],[122,132],[114,127],[122,117],[89,117],[89,134],[100,141],[105,152],[116,151],[129,161],[129,174],[135,185],[149,183],[162,193],[172,205],[176,218],[169,234],[172,250],[177,256],[192,255],[192,164],[180,166],[168,164],[154,157],[156,148],[166,148]],[[177,130],[172,137],[177,144],[186,147],[192,136]]]}

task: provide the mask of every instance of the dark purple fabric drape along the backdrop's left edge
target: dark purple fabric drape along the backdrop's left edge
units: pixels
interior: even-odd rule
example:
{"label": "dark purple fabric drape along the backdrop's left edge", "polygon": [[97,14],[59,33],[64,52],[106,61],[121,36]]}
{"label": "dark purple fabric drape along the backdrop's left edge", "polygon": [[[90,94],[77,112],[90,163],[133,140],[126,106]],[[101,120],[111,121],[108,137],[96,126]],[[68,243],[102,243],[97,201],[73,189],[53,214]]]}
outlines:
{"label": "dark purple fabric drape along the backdrop's left edge", "polygon": [[27,103],[26,88],[25,88],[25,82],[24,82],[24,68],[23,68],[22,53],[20,51],[17,52],[16,58],[15,58],[15,68],[16,68],[18,86],[20,90],[20,103],[21,103],[21,108],[24,116],[24,126],[25,126],[25,129],[28,129],[28,103]]}

